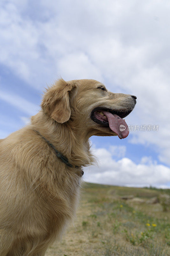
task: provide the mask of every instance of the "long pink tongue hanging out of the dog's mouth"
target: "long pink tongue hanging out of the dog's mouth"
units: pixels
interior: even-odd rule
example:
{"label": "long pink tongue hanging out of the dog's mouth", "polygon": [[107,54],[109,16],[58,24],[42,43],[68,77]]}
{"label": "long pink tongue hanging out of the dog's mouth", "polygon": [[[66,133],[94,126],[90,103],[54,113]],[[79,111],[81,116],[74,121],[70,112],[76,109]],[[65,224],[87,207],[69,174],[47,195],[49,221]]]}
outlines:
{"label": "long pink tongue hanging out of the dog's mouth", "polygon": [[102,112],[105,116],[107,116],[110,129],[113,132],[117,133],[120,139],[126,138],[129,134],[128,125],[126,124],[126,122],[116,114],[111,114],[110,112],[107,112],[107,111],[102,111]]}

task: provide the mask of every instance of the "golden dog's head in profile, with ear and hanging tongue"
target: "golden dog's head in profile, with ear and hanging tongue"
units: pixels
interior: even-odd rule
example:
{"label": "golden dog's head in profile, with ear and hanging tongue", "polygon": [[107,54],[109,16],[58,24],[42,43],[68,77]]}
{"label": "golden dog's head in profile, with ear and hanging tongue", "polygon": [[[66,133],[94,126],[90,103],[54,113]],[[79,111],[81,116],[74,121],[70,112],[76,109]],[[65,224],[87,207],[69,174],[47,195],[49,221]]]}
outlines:
{"label": "golden dog's head in profile, with ear and hanging tongue", "polygon": [[41,107],[58,123],[74,123],[81,131],[98,136],[128,136],[123,120],[136,104],[136,96],[113,93],[104,84],[90,79],[60,79],[48,88]]}

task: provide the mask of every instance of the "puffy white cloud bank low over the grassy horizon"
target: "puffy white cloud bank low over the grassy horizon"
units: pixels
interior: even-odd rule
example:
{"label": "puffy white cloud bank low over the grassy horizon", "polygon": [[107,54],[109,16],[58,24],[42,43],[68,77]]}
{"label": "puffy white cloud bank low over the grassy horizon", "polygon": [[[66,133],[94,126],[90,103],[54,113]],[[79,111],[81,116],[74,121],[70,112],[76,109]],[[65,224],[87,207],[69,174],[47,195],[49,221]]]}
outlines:
{"label": "puffy white cloud bank low over the grassy horizon", "polygon": [[150,157],[143,157],[136,164],[126,157],[114,160],[105,148],[96,149],[95,153],[100,160],[99,167],[84,168],[84,179],[87,181],[121,186],[170,187],[167,185],[170,182],[170,168],[152,162]]}

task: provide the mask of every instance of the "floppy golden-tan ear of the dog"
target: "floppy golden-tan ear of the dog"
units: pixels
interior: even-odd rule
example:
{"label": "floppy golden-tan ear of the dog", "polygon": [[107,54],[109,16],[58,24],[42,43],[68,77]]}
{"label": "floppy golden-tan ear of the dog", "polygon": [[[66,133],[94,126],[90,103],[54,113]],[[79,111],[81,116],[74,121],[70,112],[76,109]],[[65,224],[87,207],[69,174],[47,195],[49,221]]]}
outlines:
{"label": "floppy golden-tan ear of the dog", "polygon": [[62,78],[46,89],[41,107],[46,114],[58,123],[65,123],[71,116],[70,104],[77,93],[77,85]]}

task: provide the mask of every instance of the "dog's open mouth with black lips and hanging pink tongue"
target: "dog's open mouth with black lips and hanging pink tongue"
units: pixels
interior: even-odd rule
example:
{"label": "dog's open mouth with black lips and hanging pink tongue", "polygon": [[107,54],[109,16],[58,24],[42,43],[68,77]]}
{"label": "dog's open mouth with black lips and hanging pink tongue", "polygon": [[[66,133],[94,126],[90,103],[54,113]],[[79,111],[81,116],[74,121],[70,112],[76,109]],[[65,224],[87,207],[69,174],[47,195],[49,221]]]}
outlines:
{"label": "dog's open mouth with black lips and hanging pink tongue", "polygon": [[123,118],[128,116],[131,111],[114,111],[109,108],[98,107],[93,109],[90,117],[95,123],[110,127],[120,139],[123,139],[129,134],[128,125]]}

